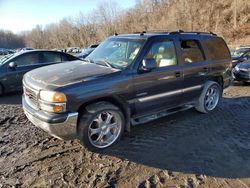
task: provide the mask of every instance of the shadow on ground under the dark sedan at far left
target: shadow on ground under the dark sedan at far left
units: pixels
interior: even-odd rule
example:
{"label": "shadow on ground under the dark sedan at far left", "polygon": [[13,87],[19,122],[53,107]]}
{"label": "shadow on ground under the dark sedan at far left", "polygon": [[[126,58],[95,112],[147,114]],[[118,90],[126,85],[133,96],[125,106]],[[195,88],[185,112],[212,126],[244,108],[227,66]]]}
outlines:
{"label": "shadow on ground under the dark sedan at far left", "polygon": [[13,92],[0,96],[0,105],[20,105],[22,104],[22,92]]}

